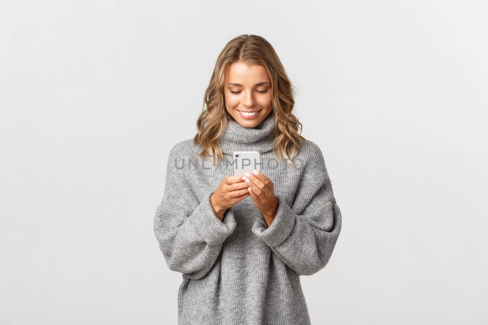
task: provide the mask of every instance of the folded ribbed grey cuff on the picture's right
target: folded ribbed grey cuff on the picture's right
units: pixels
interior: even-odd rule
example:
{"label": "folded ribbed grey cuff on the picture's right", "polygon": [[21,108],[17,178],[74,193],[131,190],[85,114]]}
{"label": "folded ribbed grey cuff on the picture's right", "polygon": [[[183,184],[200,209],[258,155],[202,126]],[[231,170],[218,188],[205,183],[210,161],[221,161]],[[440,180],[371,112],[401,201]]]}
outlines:
{"label": "folded ribbed grey cuff on the picture's right", "polygon": [[278,210],[271,226],[266,228],[267,225],[263,217],[256,220],[251,229],[269,247],[280,245],[288,237],[295,225],[295,213],[281,195],[276,195],[276,198],[278,199]]}

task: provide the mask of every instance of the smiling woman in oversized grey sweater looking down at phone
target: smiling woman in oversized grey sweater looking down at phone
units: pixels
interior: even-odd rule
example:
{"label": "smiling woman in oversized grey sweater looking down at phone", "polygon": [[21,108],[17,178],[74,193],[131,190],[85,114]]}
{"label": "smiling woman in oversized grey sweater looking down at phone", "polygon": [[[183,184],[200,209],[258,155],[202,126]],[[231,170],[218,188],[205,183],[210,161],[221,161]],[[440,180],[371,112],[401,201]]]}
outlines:
{"label": "smiling woman in oversized grey sweater looking down at phone", "polygon": [[[169,153],[154,219],[168,267],[183,273],[179,324],[310,324],[300,275],[325,267],[342,217],[273,47],[229,41],[204,102],[198,133]],[[258,151],[262,172],[233,176],[234,151]]]}

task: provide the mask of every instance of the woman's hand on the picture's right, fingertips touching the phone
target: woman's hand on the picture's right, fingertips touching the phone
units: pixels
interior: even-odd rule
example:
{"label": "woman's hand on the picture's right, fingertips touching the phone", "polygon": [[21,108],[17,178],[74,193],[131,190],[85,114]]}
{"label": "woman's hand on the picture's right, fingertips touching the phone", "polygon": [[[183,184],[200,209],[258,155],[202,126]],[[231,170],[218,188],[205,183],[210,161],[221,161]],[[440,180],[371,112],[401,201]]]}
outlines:
{"label": "woman's hand on the picture's right, fingertips touching the phone", "polygon": [[253,171],[253,174],[246,172],[242,179],[248,185],[254,205],[263,213],[264,220],[269,227],[278,210],[278,199],[274,195],[273,182],[262,172],[256,170]]}

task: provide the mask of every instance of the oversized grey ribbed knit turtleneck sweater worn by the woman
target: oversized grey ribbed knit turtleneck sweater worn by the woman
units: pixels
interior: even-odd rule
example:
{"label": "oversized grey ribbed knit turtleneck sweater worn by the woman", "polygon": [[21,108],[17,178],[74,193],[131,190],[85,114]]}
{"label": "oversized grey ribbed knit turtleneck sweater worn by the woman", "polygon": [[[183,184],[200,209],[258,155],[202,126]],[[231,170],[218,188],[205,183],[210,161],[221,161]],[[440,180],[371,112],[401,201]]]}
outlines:
{"label": "oversized grey ribbed knit turtleneck sweater worn by the woman", "polygon": [[[278,210],[269,227],[248,196],[214,213],[210,196],[233,166],[198,157],[193,139],[173,146],[154,233],[167,266],[182,273],[178,324],[310,324],[301,275],[328,263],[341,231],[341,211],[324,156],[301,143],[295,167],[274,160],[271,112],[254,128],[234,120],[220,137],[224,158],[234,151],[261,153],[261,172],[273,182]],[[301,165],[301,166],[299,166]]]}

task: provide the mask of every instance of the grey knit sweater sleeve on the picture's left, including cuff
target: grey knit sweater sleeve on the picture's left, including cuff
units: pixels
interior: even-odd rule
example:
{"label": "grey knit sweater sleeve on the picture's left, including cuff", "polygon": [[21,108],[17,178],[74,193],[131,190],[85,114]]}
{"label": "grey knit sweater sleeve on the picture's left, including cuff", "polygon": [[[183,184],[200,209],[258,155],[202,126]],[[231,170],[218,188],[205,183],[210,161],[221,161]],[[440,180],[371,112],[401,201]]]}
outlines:
{"label": "grey knit sweater sleeve on the picture's left, including cuff", "polygon": [[210,202],[212,192],[199,200],[183,170],[176,167],[175,160],[182,164],[177,146],[169,154],[154,233],[169,269],[185,278],[200,279],[210,271],[237,224],[232,209],[225,211],[223,221],[217,218]]}

